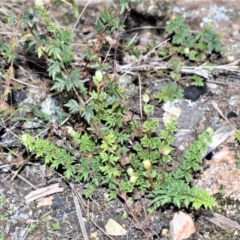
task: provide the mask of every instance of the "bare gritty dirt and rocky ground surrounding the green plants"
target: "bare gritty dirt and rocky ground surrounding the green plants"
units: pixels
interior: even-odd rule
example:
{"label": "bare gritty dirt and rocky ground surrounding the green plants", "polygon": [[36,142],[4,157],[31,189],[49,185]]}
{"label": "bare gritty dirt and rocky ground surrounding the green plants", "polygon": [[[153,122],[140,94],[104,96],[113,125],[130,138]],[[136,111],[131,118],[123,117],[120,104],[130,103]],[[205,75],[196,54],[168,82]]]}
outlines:
{"label": "bare gritty dirt and rocky ground surrounding the green plants", "polygon": [[[2,2],[0,3],[2,10],[6,7],[11,8],[9,1]],[[166,4],[165,1],[161,2]],[[24,4],[26,4],[25,1],[19,1],[18,4],[12,5],[12,11],[21,11]],[[154,1],[150,1],[149,7],[151,6],[154,6]],[[104,4],[95,4],[87,8],[76,31],[79,36],[85,39],[94,37],[93,23],[103,7]],[[82,9],[82,6],[80,8]],[[166,9],[164,12],[166,15],[162,13],[159,17],[149,13],[148,18],[143,17],[144,21],[142,22],[136,21],[136,15],[130,16],[128,25],[132,28],[139,27],[141,29],[142,25],[149,26],[154,22],[155,25],[164,28],[166,21],[177,14],[183,14],[195,31],[199,31],[201,27],[211,22],[216,32],[223,36],[225,59],[229,62],[240,59],[239,1],[178,1],[178,3],[167,1]],[[72,19],[71,23],[67,22],[71,19],[70,12],[71,8],[68,5],[52,9],[52,15],[56,21],[59,21],[62,25],[66,26],[68,24],[69,27],[72,27],[76,19]],[[138,17],[141,16],[141,10],[138,14]],[[5,29],[1,30],[1,32],[3,31]],[[159,32],[144,30],[144,32],[141,32],[141,36],[144,39],[164,40],[165,36],[162,33],[162,30]],[[29,74],[33,75],[32,72]],[[155,79],[155,76],[153,77],[151,73],[143,73],[143,82],[147,81],[144,79],[146,76]],[[220,126],[230,122],[236,129],[240,129],[239,80],[240,76],[236,73],[225,71],[224,73],[215,74],[207,82],[207,92],[200,96],[197,101],[190,103],[184,100],[176,103],[175,107],[183,112],[182,128],[191,125],[192,130],[199,134],[207,127],[218,129]],[[188,82],[184,87],[187,86]],[[153,85],[148,84],[148,87],[153,88]],[[217,104],[218,108],[213,105],[213,102]],[[156,105],[156,109],[155,114],[160,121],[163,121],[163,114],[166,111],[160,105]],[[186,109],[188,109],[188,112],[184,112]],[[17,130],[16,134],[20,133],[21,129]],[[5,131],[1,130],[1,134],[5,134]],[[4,155],[3,149],[0,148],[0,151],[2,159],[6,155]],[[238,168],[240,160],[238,159],[240,156],[238,153],[240,153],[239,144],[235,139],[235,135],[231,134],[217,149],[214,149],[213,156],[208,156],[208,159],[204,160],[202,172],[196,177],[195,184],[207,189],[212,194],[223,194],[224,197],[220,196],[218,199],[219,206],[215,211],[219,211],[224,216],[240,222],[240,204],[238,201],[240,196],[240,169]],[[45,198],[45,202],[33,201],[31,204],[26,204],[25,197],[29,193],[36,188],[40,189],[52,184],[59,184],[59,192]],[[111,203],[106,202],[106,190],[99,189],[93,199],[87,201],[81,198],[84,187],[86,186],[73,184],[71,188],[58,173],[48,169],[40,161],[24,165],[22,168],[0,169],[0,239],[84,239],[77,217],[79,211],[76,210],[77,204],[73,198],[74,191],[79,194],[77,200],[80,204],[83,224],[89,238],[101,240],[109,238],[116,240],[146,239],[146,235],[135,228],[133,219],[128,215],[126,206],[120,200]],[[133,204],[135,215],[140,222],[145,224],[145,232],[151,236],[149,239],[170,239],[169,223],[177,209],[168,206],[157,211],[148,212],[149,207],[149,202],[144,198]],[[189,239],[225,240],[240,238],[239,228],[226,230],[222,226],[224,223],[216,226],[202,217],[201,213],[190,211],[190,215],[195,220],[197,232]],[[127,230],[127,235],[118,237],[106,235],[104,226],[111,218]]]}

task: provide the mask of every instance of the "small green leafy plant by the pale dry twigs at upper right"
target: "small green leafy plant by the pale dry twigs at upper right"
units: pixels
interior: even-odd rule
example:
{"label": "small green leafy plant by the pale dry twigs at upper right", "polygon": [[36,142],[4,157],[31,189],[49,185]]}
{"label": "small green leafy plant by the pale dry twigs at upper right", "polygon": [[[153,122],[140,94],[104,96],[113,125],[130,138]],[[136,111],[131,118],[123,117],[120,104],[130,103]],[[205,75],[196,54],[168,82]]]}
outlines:
{"label": "small green leafy plant by the pale dry twigs at upper right", "polygon": [[[170,77],[175,81],[180,80],[182,75],[180,70],[186,63],[203,63],[209,61],[209,56],[213,52],[221,54],[223,51],[220,37],[211,26],[198,34],[193,34],[184,18],[177,16],[167,25],[166,31],[171,34],[171,42],[161,50],[160,55],[171,56],[167,64],[171,69]],[[197,86],[203,86],[203,79],[200,76],[193,75],[192,79]]]}

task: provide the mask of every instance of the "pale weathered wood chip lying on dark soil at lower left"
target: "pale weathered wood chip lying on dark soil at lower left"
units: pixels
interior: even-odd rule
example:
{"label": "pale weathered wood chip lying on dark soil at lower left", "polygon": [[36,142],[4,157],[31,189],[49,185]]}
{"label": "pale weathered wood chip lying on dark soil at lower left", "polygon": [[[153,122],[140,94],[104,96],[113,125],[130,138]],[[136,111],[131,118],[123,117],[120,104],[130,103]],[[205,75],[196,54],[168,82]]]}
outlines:
{"label": "pale weathered wood chip lying on dark soil at lower left", "polygon": [[25,196],[25,202],[28,204],[36,199],[51,195],[53,193],[62,192],[64,189],[59,187],[59,183],[53,184],[51,186],[40,188],[32,191],[27,196]]}

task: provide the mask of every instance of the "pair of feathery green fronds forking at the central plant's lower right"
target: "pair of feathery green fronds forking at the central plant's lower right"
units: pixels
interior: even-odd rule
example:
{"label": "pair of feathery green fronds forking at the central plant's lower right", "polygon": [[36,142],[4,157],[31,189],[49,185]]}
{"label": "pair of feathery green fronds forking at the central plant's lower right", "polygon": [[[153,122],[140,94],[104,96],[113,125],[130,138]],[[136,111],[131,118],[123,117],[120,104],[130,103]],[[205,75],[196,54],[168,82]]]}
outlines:
{"label": "pair of feathery green fronds forking at the central plant's lower right", "polygon": [[174,203],[180,207],[182,204],[186,207],[189,204],[195,209],[201,206],[212,208],[216,201],[205,190],[189,187],[189,182],[193,180],[193,172],[200,169],[202,164],[201,153],[206,152],[207,145],[211,142],[212,130],[209,130],[199,136],[183,156],[182,163],[175,171],[167,174],[164,182],[158,185],[149,196],[153,198],[155,207],[163,206],[166,203]]}

